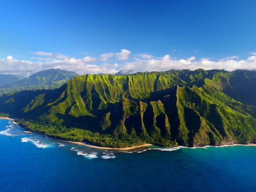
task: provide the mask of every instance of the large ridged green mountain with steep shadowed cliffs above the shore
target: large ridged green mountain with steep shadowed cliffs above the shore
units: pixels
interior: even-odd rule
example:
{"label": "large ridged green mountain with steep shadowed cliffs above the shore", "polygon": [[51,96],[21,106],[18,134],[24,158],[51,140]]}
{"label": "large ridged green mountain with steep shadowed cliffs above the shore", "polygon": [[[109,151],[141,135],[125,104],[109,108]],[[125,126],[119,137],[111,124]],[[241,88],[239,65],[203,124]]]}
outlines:
{"label": "large ridged green mountain with steep shadowed cliffs above the shore", "polygon": [[[0,97],[26,129],[108,147],[256,142],[256,72],[197,69],[76,76]],[[244,92],[246,91],[246,92]]]}

